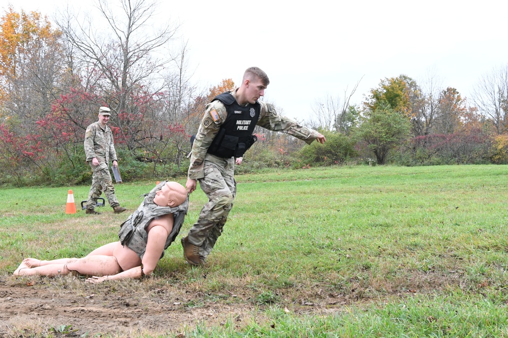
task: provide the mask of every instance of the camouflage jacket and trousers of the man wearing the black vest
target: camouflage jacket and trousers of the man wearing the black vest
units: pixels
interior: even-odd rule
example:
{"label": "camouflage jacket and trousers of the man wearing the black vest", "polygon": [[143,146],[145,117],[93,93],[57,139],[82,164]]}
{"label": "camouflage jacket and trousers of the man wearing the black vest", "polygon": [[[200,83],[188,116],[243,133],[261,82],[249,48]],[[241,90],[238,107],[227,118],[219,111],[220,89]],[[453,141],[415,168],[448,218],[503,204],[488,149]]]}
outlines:
{"label": "camouflage jacket and trousers of the man wearing the black vest", "polygon": [[[236,90],[231,94],[236,99]],[[277,114],[272,104],[258,102],[261,104],[258,126],[293,135],[307,144],[319,136],[317,131],[300,126],[295,121]],[[199,181],[209,201],[201,210],[187,237],[190,243],[200,247],[199,254],[203,257],[211,252],[217,238],[223,232],[236,196],[235,158],[225,159],[207,154],[208,147],[226,118],[224,103],[215,100],[206,106],[190,155],[188,178]]]}

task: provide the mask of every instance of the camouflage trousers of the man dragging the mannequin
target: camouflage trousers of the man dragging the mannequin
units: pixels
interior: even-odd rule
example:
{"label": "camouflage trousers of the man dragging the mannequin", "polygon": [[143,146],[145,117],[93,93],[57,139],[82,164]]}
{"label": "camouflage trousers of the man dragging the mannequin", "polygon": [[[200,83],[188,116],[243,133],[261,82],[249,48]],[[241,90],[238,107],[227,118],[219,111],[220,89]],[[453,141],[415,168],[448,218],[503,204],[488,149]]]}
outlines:
{"label": "camouflage trousers of the man dragging the mannequin", "polygon": [[222,234],[228,214],[236,196],[234,178],[235,159],[222,159],[207,154],[204,161],[205,177],[198,179],[201,189],[208,197],[188,233],[190,243],[200,247],[200,255],[207,256],[217,238]]}

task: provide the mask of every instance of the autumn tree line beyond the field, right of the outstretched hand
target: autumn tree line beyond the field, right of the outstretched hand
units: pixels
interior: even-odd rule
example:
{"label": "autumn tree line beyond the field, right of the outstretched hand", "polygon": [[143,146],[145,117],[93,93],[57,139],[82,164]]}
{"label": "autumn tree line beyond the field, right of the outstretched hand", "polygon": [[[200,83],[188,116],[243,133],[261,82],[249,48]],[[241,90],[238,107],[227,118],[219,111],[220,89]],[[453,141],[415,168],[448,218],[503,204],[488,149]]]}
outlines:
{"label": "autumn tree line beyond the field, right of the outstretched hand", "polygon": [[507,74],[507,66],[493,70],[471,100],[435,74],[423,85],[401,74],[381,80],[358,106],[348,104],[356,87],[316,101],[312,124],[341,135],[348,160],[370,165],[506,164]]}

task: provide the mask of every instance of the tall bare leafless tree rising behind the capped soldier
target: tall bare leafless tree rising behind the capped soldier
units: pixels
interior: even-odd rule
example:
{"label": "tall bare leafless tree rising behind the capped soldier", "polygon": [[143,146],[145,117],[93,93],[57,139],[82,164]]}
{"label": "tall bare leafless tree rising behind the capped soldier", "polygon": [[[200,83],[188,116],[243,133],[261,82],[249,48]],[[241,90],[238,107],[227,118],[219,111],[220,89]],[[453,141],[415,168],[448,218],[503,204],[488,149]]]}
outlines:
{"label": "tall bare leafless tree rising behind the capped soldier", "polygon": [[[81,20],[68,10],[57,23],[79,51],[74,60],[81,66],[80,75],[87,80],[88,90],[96,90],[116,112],[114,123],[133,149],[140,140],[145,110],[150,109],[147,103],[157,108],[161,99],[163,74],[174,61],[165,49],[178,26],[154,27],[156,2],[118,0],[115,4],[118,6],[107,0],[97,2],[101,19]],[[141,106],[140,100],[145,104]]]}

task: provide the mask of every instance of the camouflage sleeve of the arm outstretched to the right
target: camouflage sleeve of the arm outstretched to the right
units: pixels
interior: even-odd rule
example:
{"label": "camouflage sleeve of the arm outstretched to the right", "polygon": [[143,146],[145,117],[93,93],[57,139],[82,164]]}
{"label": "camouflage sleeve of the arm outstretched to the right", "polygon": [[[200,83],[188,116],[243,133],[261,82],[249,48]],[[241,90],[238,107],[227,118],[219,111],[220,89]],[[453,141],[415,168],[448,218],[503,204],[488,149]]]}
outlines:
{"label": "camouflage sleeve of the arm outstretched to the right", "polygon": [[273,104],[262,101],[259,101],[259,103],[261,103],[261,113],[258,126],[295,136],[305,141],[307,144],[312,143],[319,135],[317,131],[301,126],[288,117],[279,115],[277,111],[275,111]]}

